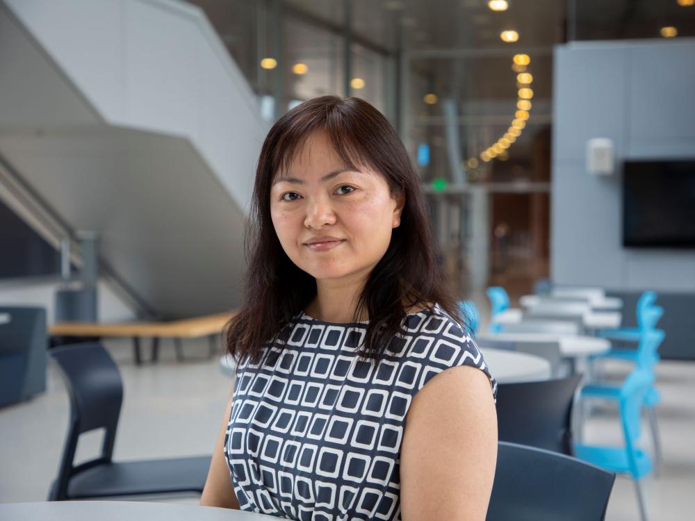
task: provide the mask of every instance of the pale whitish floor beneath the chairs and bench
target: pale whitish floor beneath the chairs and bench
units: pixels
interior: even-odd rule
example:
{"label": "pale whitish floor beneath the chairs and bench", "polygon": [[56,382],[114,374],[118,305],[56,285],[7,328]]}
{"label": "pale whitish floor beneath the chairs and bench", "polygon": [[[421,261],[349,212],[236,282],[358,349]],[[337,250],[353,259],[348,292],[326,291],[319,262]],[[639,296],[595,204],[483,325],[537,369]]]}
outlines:
{"label": "pale whitish floor beneath the chairs and bench", "polygon": [[[206,342],[186,342],[186,356],[177,363],[173,345],[163,342],[161,360],[136,367],[129,342],[109,341],[124,380],[124,403],[115,458],[157,458],[209,454],[217,436],[232,382],[222,375],[218,358],[198,360]],[[619,376],[623,367],[612,367]],[[664,468],[662,477],[644,481],[651,521],[693,519],[695,515],[695,363],[663,362],[657,370],[663,403],[657,409]],[[0,502],[46,499],[58,468],[69,415],[65,387],[56,367],[49,366],[48,388],[30,402],[0,409]],[[651,438],[644,429],[643,441]],[[619,444],[621,431],[615,408],[598,408],[587,424],[587,443]],[[78,459],[96,454],[99,433],[83,436]],[[152,499],[149,499],[152,500]],[[197,504],[197,497],[158,498],[163,502]],[[607,520],[638,519],[635,490],[619,477]]]}

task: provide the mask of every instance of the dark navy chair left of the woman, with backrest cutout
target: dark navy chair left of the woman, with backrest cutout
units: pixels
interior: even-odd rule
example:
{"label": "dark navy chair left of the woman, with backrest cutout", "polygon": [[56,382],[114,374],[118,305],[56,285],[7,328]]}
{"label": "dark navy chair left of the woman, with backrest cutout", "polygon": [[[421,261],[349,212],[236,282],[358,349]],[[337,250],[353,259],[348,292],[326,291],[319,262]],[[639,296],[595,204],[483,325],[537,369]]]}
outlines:
{"label": "dark navy chair left of the woman, with backrest cutout", "polygon": [[[123,397],[118,367],[99,343],[51,350],[70,394],[70,424],[49,501],[142,494],[202,493],[211,456],[116,463],[113,445]],[[74,466],[82,433],[105,429],[101,456]]]}

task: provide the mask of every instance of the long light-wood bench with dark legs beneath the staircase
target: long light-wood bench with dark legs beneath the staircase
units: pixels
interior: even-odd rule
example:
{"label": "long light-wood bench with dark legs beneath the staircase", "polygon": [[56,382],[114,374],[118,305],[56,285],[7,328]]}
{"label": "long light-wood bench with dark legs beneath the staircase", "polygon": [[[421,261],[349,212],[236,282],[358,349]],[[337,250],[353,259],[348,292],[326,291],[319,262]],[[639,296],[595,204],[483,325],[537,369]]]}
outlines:
{"label": "long light-wood bench with dark legs beneath the staircase", "polygon": [[49,327],[49,336],[56,337],[111,337],[132,338],[136,364],[142,363],[140,339],[152,338],[152,361],[159,355],[159,339],[172,338],[178,361],[183,361],[183,338],[207,336],[210,356],[215,354],[216,339],[233,313],[218,313],[204,317],[186,318],[173,322],[124,322],[100,324],[98,322],[58,322]]}

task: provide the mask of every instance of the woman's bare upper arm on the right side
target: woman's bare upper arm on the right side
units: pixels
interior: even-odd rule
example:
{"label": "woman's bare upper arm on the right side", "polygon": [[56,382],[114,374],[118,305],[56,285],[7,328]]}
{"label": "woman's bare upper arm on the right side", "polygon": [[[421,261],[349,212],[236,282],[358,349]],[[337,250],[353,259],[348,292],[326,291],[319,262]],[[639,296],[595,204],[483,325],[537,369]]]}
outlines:
{"label": "woman's bare upper arm on the right side", "polygon": [[427,382],[407,415],[400,454],[404,521],[484,521],[497,462],[497,413],[475,367]]}

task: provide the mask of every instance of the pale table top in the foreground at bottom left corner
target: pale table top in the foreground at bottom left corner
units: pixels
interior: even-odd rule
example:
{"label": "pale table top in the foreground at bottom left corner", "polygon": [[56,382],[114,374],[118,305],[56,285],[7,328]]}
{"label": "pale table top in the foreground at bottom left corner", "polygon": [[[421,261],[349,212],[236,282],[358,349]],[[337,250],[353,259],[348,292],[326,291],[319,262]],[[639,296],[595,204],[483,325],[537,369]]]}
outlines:
{"label": "pale table top in the foreground at bottom left corner", "polygon": [[50,501],[0,504],[0,519],[12,521],[262,521],[272,515],[229,508],[130,501]]}

